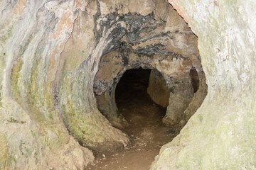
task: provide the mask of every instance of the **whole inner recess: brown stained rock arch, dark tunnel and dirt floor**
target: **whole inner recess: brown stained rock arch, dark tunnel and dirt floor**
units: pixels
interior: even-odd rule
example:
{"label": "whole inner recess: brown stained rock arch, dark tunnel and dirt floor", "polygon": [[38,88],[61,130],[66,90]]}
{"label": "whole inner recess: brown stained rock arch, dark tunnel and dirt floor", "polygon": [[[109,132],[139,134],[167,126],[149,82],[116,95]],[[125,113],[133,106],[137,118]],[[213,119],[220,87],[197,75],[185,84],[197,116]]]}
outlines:
{"label": "whole inner recess: brown stained rock arch, dark tunnel and dirt floor", "polygon": [[[109,30],[105,35],[109,41],[99,39],[92,54],[96,57],[90,70],[97,108],[114,128],[129,136],[131,145],[117,152],[112,152],[117,147],[106,147],[110,152],[100,152],[101,161],[92,169],[118,169],[120,164],[146,168],[159,148],[178,135],[207,94],[197,37],[165,5],[170,10],[168,18],[157,18],[154,13],[110,13],[99,18],[99,28]],[[117,159],[119,164],[114,164]]]}

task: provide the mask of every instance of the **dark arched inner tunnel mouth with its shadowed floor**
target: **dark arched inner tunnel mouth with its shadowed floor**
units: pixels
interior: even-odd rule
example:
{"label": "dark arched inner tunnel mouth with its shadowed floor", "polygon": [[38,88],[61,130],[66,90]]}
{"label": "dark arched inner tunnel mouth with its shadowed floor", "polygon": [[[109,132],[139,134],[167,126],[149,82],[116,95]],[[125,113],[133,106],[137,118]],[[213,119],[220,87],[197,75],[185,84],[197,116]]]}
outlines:
{"label": "dark arched inner tunnel mouth with its shadowed floor", "polygon": [[[158,77],[154,77],[155,72],[158,73]],[[160,106],[151,99],[153,94],[154,98],[162,98],[160,93],[151,91],[151,89],[162,90],[162,86],[155,84],[156,81],[164,80],[159,75],[161,73],[154,69],[142,69],[142,67],[129,69],[124,72],[117,83],[115,100],[118,115],[122,115],[127,120],[129,127],[124,128],[124,131],[130,136],[134,136],[134,132],[140,133],[146,128],[151,130],[151,126],[161,124],[161,120],[164,118],[166,107]],[[166,86],[165,89],[167,89]],[[165,93],[166,96],[169,96],[168,89]],[[165,98],[165,103],[168,103],[168,99],[169,97]]]}

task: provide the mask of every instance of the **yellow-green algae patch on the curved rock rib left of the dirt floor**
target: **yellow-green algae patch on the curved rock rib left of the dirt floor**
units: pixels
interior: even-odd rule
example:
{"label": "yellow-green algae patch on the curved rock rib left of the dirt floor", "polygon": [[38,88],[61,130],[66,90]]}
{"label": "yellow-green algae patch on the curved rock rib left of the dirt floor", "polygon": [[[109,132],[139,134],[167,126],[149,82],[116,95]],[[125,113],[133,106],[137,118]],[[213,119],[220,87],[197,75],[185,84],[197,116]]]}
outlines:
{"label": "yellow-green algae patch on the curved rock rib left of the dirt floor", "polygon": [[[104,142],[102,131],[97,127],[97,123],[92,122],[96,113],[85,113],[90,111],[90,106],[85,103],[85,106],[78,106],[78,103],[75,99],[75,96],[70,96],[68,94],[74,94],[74,91],[78,92],[78,86],[75,86],[75,83],[78,83],[78,80],[71,80],[72,74],[68,72],[63,75],[62,79],[59,82],[59,92],[60,100],[63,100],[61,103],[61,113],[65,125],[67,126],[70,134],[75,137],[75,139],[80,142],[81,145],[89,147],[90,149],[97,147],[97,142]],[[83,80],[84,77],[80,77],[79,81]],[[65,86],[63,86],[65,84]],[[84,85],[84,84],[83,84]],[[83,87],[85,88],[85,87]],[[78,101],[79,102],[79,101]],[[95,118],[97,119],[97,118]],[[99,143],[98,143],[99,144]]]}

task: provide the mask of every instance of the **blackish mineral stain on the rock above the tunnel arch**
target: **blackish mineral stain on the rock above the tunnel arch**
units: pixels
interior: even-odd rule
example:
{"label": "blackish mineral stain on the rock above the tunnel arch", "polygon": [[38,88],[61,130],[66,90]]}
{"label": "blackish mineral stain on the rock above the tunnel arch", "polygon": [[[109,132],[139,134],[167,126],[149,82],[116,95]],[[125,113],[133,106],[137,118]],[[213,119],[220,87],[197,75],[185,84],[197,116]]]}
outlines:
{"label": "blackish mineral stain on the rock above the tunnel arch", "polygon": [[[100,4],[98,4],[99,6]],[[103,31],[112,29],[110,35],[107,35],[107,40],[111,39],[111,42],[107,45],[102,55],[107,54],[108,52],[117,50],[123,43],[123,38],[125,36],[125,41],[129,45],[138,45],[146,40],[152,38],[159,38],[163,36],[170,37],[169,33],[160,33],[159,35],[154,35],[149,38],[142,38],[143,33],[153,32],[159,26],[164,26],[166,21],[156,21],[154,15],[151,13],[147,16],[142,16],[137,13],[127,13],[124,16],[119,16],[117,18],[117,13],[110,13],[104,18],[100,18],[100,9],[98,9],[95,14],[95,36],[97,42],[100,40],[100,37],[103,35]],[[121,24],[125,23],[125,24]],[[100,28],[97,30],[96,26],[100,25]],[[163,45],[156,45],[155,52],[159,50],[157,47]],[[139,50],[139,49],[138,49]],[[137,50],[137,51],[138,51]],[[146,49],[145,49],[146,50]],[[142,52],[145,53],[145,52]],[[151,52],[152,53],[152,52]],[[152,54],[153,55],[153,54]],[[150,56],[150,55],[149,55]]]}

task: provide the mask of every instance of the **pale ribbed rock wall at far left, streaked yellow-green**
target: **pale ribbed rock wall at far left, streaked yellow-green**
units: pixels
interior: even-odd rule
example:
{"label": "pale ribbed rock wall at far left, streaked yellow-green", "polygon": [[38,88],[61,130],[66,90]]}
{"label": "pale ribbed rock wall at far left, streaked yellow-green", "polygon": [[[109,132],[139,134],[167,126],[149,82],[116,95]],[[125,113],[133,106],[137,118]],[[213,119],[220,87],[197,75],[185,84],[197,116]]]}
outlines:
{"label": "pale ribbed rock wall at far left, streaked yellow-green", "polygon": [[60,53],[85,1],[0,2],[0,169],[83,169],[92,152],[54,106]]}

